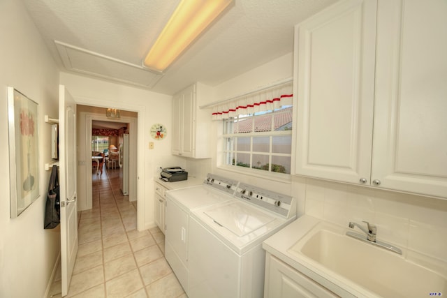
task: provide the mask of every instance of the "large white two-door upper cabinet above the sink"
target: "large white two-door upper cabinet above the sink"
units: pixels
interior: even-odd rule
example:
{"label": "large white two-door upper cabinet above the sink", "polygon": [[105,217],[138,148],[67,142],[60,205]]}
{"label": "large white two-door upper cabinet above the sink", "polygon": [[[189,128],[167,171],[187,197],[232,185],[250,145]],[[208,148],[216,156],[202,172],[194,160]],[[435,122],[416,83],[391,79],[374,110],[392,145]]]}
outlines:
{"label": "large white two-door upper cabinet above the sink", "polygon": [[447,1],[346,0],[295,27],[295,174],[447,198]]}

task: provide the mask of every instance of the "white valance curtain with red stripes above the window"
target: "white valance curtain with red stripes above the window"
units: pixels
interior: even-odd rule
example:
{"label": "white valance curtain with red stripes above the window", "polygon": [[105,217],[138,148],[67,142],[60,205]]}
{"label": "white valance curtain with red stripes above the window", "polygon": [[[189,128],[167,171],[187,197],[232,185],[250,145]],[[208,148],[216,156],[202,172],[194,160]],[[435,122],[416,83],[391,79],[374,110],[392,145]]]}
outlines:
{"label": "white valance curtain with red stripes above the window", "polygon": [[212,107],[212,119],[221,120],[237,117],[242,114],[254,114],[279,109],[284,105],[292,105],[293,82],[256,91],[231,100],[224,100]]}

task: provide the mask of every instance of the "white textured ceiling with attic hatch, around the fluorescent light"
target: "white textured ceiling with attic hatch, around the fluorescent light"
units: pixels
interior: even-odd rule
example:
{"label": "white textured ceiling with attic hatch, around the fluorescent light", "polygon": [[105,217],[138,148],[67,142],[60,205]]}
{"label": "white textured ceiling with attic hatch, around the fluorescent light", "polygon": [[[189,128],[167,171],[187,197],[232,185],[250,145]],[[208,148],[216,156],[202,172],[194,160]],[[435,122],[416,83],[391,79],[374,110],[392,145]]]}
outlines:
{"label": "white textured ceiling with attic hatch, around the fluorescent light", "polygon": [[294,25],[336,0],[235,0],[163,75],[142,61],[179,0],[23,1],[61,70],[175,94],[292,52]]}

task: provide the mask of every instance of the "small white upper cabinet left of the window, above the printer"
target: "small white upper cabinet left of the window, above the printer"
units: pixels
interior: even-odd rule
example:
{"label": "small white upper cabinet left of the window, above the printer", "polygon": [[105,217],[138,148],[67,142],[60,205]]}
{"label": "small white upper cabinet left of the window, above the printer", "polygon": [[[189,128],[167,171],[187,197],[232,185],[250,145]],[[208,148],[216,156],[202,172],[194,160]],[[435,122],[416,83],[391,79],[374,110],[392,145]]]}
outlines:
{"label": "small white upper cabinet left of the window, above the printer", "polygon": [[210,158],[209,110],[200,110],[200,96],[209,88],[197,82],[173,97],[173,154],[190,158]]}

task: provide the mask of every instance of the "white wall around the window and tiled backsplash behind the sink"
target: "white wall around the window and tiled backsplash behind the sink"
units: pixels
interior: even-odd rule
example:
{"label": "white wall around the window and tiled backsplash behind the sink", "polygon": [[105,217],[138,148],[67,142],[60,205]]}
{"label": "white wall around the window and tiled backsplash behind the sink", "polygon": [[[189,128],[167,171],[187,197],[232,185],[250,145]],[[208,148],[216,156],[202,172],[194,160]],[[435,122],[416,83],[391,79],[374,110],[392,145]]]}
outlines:
{"label": "white wall around the window and tiled backsplash behind the sink", "polygon": [[[215,88],[216,100],[224,100],[292,76],[292,54],[270,61]],[[285,181],[260,175],[230,172],[221,167],[219,134],[221,125],[212,126],[214,145],[212,172],[271,188],[298,198],[298,214],[309,214],[347,227],[349,221],[370,221],[378,226],[378,237],[403,248],[404,256],[430,264],[447,275],[447,200],[377,190],[362,186],[291,176]]]}

